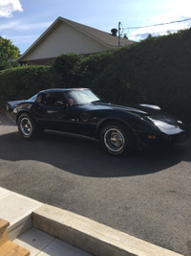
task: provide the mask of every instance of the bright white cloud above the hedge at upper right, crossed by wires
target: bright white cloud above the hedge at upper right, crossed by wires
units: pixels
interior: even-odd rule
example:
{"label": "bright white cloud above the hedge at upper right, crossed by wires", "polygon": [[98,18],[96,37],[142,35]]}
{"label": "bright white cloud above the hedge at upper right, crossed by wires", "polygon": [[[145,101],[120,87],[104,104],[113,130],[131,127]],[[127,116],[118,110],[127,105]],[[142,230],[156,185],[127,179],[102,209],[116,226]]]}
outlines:
{"label": "bright white cloud above the hedge at upper right, crossed by wires", "polygon": [[[171,6],[168,12],[161,12],[145,20],[146,25],[154,25],[161,23],[169,23],[179,20],[184,20],[191,18],[190,14],[191,1],[190,0],[177,0]],[[175,33],[183,29],[188,29],[191,27],[191,20],[185,22],[177,22],[166,24],[162,26],[144,27],[138,30],[130,30],[129,38],[132,40],[139,40],[146,38],[149,34],[151,35],[167,35],[168,32]]]}

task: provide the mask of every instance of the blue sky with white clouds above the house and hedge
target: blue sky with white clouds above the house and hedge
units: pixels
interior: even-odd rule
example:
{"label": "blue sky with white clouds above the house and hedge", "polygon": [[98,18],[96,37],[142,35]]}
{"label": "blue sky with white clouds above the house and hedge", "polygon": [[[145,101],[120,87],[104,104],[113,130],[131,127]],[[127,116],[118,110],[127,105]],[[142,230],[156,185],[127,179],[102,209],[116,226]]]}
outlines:
{"label": "blue sky with white clouds above the house and hedge", "polygon": [[120,21],[123,35],[139,40],[191,26],[187,22],[128,29],[191,18],[190,0],[0,0],[0,35],[11,39],[21,54],[62,16],[110,33]]}

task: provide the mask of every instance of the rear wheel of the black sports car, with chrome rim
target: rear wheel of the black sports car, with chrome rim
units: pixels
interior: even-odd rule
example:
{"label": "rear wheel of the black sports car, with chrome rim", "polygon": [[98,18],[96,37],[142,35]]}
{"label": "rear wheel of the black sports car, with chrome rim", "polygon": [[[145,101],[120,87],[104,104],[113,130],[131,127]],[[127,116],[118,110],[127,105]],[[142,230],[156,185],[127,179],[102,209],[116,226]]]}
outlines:
{"label": "rear wheel of the black sports car, with chrome rim", "polygon": [[36,138],[40,133],[38,125],[28,113],[23,113],[19,116],[17,126],[20,135],[24,139]]}

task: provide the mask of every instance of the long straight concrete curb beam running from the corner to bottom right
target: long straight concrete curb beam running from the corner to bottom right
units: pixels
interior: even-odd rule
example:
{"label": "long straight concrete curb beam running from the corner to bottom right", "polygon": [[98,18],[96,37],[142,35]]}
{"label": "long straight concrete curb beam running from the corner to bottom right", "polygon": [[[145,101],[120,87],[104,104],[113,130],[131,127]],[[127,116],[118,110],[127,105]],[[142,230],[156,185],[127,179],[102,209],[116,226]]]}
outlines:
{"label": "long straight concrete curb beam running from the corner to bottom right", "polygon": [[180,256],[104,224],[44,204],[32,212],[32,225],[94,255]]}

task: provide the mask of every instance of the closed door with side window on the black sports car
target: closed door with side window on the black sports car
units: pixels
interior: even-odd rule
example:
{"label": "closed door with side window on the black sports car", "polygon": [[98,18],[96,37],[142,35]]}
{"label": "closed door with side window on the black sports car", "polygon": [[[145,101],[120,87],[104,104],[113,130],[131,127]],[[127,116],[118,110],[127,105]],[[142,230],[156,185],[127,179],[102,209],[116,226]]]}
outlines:
{"label": "closed door with side window on the black sports car", "polygon": [[36,115],[46,129],[91,136],[96,129],[95,120],[87,105],[71,105],[62,92],[42,94]]}

